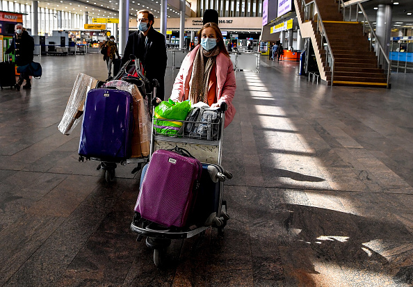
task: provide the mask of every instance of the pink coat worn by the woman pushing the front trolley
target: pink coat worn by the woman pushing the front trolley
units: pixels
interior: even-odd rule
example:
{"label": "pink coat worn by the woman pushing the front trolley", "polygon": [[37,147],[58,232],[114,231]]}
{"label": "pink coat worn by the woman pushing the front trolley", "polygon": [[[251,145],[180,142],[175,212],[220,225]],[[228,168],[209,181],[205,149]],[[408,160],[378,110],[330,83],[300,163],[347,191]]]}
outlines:
{"label": "pink coat worn by the woman pushing the front trolley", "polygon": [[[174,86],[172,88],[172,94],[170,99],[173,101],[185,101],[189,97],[189,81],[191,81],[193,60],[197,54],[200,45],[197,45],[182,62],[181,69],[177,74]],[[234,105],[232,105],[232,99],[234,98],[236,82],[234,67],[232,66],[231,59],[225,54],[218,54],[216,56],[216,98],[218,103],[225,101],[227,103],[228,109],[225,112],[225,127],[228,126],[234,119],[236,110]]]}

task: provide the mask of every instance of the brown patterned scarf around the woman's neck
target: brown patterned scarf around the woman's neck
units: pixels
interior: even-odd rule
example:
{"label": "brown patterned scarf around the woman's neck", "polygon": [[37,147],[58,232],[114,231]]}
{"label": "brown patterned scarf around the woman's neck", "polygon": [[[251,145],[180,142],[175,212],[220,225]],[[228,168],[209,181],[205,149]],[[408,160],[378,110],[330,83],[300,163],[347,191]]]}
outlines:
{"label": "brown patterned scarf around the woman's neck", "polygon": [[[191,101],[191,104],[196,104],[199,101],[208,103],[209,76],[211,76],[211,69],[213,65],[215,65],[218,54],[220,54],[220,48],[218,46],[210,51],[206,51],[202,47],[198,49],[193,60],[191,75],[191,90],[189,92],[189,101]],[[208,58],[206,65],[204,65],[204,56]]]}

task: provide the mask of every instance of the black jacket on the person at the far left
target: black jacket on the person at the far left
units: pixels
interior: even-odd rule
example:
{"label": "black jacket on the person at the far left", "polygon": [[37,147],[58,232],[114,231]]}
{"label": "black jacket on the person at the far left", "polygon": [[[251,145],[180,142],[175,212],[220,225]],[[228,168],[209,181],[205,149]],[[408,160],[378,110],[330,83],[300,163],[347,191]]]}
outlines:
{"label": "black jacket on the person at the far left", "polygon": [[13,35],[13,41],[6,54],[15,51],[15,64],[17,66],[29,65],[33,62],[34,40],[27,31],[22,31],[22,35]]}

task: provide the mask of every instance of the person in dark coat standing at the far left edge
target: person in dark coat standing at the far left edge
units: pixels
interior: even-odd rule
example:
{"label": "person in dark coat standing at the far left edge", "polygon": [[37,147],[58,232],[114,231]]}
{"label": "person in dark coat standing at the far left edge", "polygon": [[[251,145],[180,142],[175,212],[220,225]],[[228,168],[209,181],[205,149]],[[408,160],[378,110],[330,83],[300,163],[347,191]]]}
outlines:
{"label": "person in dark coat standing at the far left edge", "polygon": [[[7,49],[6,54],[10,54],[15,51],[15,63],[17,66],[29,65],[33,62],[34,40],[26,30],[23,29],[22,24],[16,24],[15,35],[13,35],[13,41],[10,44],[10,48]],[[20,73],[19,81],[15,85],[16,90],[20,90],[20,86],[23,81],[26,80],[24,89],[31,88],[29,74],[26,72]]]}

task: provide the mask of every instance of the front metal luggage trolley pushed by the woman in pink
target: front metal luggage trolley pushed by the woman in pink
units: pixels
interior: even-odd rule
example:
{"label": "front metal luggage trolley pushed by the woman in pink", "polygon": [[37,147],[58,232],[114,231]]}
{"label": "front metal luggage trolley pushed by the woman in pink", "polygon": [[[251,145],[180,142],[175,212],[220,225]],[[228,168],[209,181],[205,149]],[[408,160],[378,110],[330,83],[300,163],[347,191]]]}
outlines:
{"label": "front metal luggage trolley pushed by the woman in pink", "polygon": [[[227,220],[229,220],[229,215],[227,215],[227,203],[222,199],[222,196],[224,186],[223,181],[225,181],[225,179],[231,179],[232,174],[224,170],[220,165],[222,158],[225,110],[227,110],[227,104],[224,102],[218,109],[220,117],[217,123],[169,120],[174,122],[183,122],[183,127],[185,127],[186,124],[204,124],[204,126],[208,129],[208,138],[210,139],[193,138],[192,136],[185,134],[165,135],[156,133],[156,130],[152,129],[152,141],[149,156],[152,156],[154,151],[159,149],[185,149],[202,163],[202,175],[206,172],[205,167],[211,166],[211,168],[208,168],[206,173],[209,174],[209,177],[211,177],[211,182],[215,182],[219,188],[219,191],[217,192],[219,198],[216,199],[216,218],[211,221],[209,226],[193,224],[192,226],[187,226],[184,228],[166,228],[141,218],[139,213],[135,213],[133,221],[131,222],[131,231],[138,233],[138,238],[136,238],[138,241],[141,241],[144,237],[146,237],[147,247],[154,249],[154,264],[156,266],[163,263],[166,249],[170,245],[172,239],[191,238],[197,234],[204,236],[206,229],[211,227],[218,228],[218,233],[222,233],[225,225],[227,224]],[[152,115],[154,114],[155,113],[152,113]],[[155,120],[156,119],[152,117],[153,126],[155,124]],[[162,120],[165,121],[164,119]],[[218,138],[216,140],[211,139],[213,125],[219,126]],[[145,167],[143,168],[143,174],[144,172]],[[140,181],[140,185],[142,185],[143,176],[141,176]],[[191,218],[191,214],[189,217]],[[189,220],[190,218],[188,218],[188,221],[191,221]]]}

